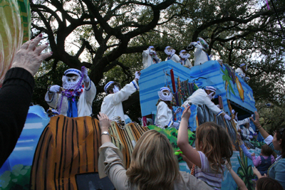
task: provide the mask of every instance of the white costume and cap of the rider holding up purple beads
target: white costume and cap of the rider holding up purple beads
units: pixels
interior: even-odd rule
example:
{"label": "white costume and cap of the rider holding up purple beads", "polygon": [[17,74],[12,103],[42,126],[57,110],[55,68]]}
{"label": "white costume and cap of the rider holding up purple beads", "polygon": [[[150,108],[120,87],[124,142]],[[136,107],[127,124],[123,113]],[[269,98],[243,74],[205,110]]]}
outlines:
{"label": "white costume and cap of the rider holding up purple beads", "polygon": [[[66,75],[68,75],[68,74],[76,74],[76,75],[78,75],[78,79],[75,82],[69,83],[68,80],[66,79]],[[86,70],[85,75],[87,75],[87,70]],[[64,75],[63,75],[63,88],[64,88],[64,90],[68,90],[72,86],[76,85],[76,83],[79,82],[80,78],[81,78],[81,71],[80,70],[77,70],[74,68],[66,70],[64,72]],[[93,102],[95,95],[96,95],[95,85],[90,80],[88,75],[84,78],[84,81],[88,81],[89,85],[84,86],[84,88],[81,87],[79,89],[79,90],[81,90],[81,94],[79,95],[78,102],[77,102],[77,110],[78,110],[77,117],[90,116],[92,114],[92,102]],[[82,84],[79,84],[79,85],[82,85]],[[50,95],[52,94],[51,99],[49,98],[48,94],[50,94]],[[48,91],[46,93],[45,100],[49,106],[53,107],[54,109],[58,109],[58,107],[61,103],[61,93],[54,93],[54,92]],[[56,105],[56,102],[57,102],[57,105]],[[68,97],[63,96],[60,114],[65,115],[65,116],[69,116],[68,115],[68,107],[69,107],[68,106]],[[69,117],[71,117],[71,116],[69,116]]]}

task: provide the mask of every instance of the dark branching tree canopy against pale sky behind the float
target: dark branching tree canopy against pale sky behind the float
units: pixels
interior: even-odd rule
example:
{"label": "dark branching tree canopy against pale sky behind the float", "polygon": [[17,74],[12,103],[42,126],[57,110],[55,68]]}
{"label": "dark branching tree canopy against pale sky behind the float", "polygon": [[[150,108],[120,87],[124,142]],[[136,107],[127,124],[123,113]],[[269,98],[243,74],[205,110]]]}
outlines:
{"label": "dark branching tree canopy against pale sky behind the float", "polygon": [[[207,53],[214,58],[235,68],[241,63],[249,65],[249,85],[257,101],[281,104],[285,100],[285,45],[281,43],[281,28],[274,9],[268,10],[262,1],[30,2],[33,36],[44,33],[53,51],[53,56],[44,64],[48,70],[38,75],[38,81],[46,81],[45,85],[51,84],[51,78],[60,81],[61,75],[54,73],[64,68],[63,65],[78,69],[86,66],[98,90],[95,112],[100,110],[105,83],[108,80],[117,80],[122,85],[130,83],[135,70],[142,69],[141,53],[148,46],[155,46],[163,60],[165,46],[179,52],[191,41],[197,41],[197,37],[209,43]],[[274,4],[284,25],[285,2],[274,1]],[[41,80],[43,78],[49,80]],[[125,102],[128,103],[125,111],[137,109],[138,115],[133,117],[140,115],[138,100],[136,94]]]}

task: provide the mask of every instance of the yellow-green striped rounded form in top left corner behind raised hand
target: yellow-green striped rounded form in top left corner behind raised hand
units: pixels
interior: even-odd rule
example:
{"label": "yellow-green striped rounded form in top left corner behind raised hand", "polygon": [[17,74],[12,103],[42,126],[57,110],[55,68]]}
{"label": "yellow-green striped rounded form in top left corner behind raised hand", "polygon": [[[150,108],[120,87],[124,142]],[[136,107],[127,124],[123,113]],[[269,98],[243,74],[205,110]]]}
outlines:
{"label": "yellow-green striped rounded form in top left corner behind raised hand", "polygon": [[30,36],[28,0],[0,0],[0,88],[16,52]]}

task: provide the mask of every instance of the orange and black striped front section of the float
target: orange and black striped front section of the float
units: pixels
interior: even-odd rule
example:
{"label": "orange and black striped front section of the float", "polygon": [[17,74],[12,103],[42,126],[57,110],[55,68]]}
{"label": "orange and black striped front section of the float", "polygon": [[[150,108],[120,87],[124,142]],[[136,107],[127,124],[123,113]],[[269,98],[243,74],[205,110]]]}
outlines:
{"label": "orange and black striped front section of the float", "polygon": [[[121,129],[115,122],[110,137],[130,165],[133,145],[147,131],[131,123]],[[41,134],[31,168],[31,189],[77,189],[76,174],[98,172],[101,145],[98,120],[91,117],[51,117]]]}

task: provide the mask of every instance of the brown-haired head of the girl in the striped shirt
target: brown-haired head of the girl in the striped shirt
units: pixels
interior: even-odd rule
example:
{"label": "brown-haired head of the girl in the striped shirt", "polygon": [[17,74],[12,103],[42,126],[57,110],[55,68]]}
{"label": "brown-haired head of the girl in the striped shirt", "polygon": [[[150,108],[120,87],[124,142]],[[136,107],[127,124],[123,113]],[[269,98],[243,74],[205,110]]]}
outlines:
{"label": "brown-haired head of the girl in the striped shirt", "polygon": [[213,171],[219,172],[222,164],[227,161],[228,168],[231,167],[232,140],[227,131],[214,122],[205,122],[199,125],[196,130],[196,148],[202,151],[209,160]]}

